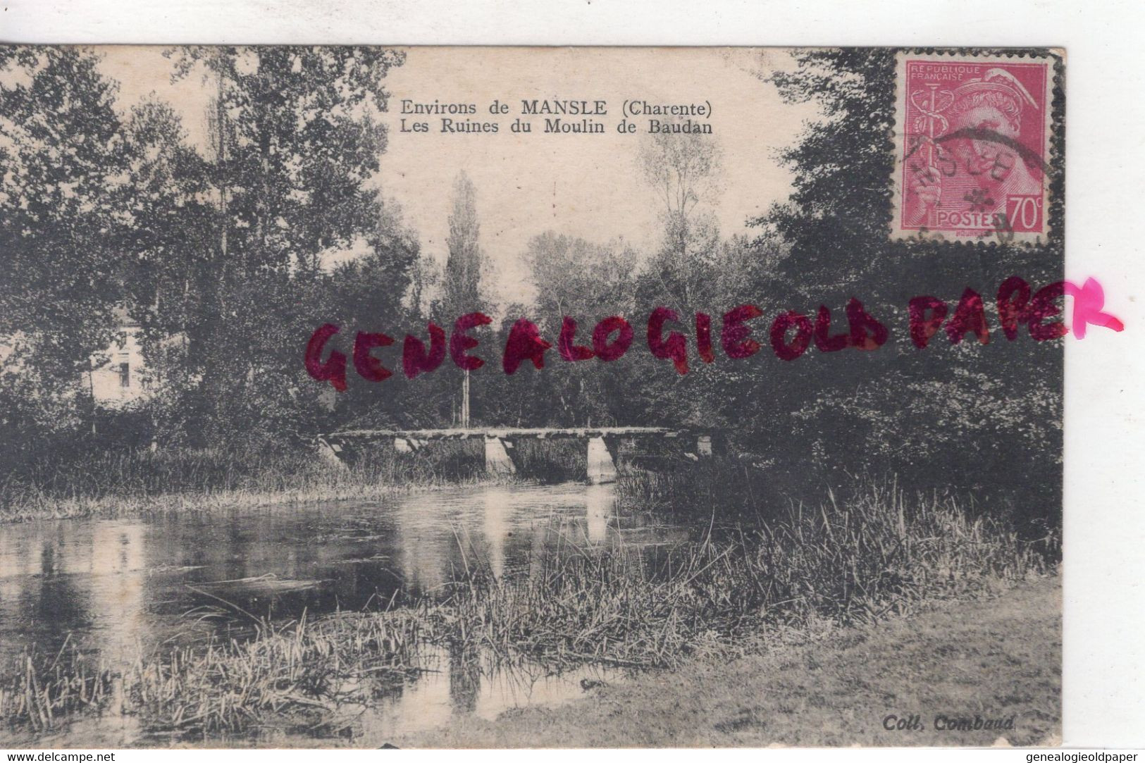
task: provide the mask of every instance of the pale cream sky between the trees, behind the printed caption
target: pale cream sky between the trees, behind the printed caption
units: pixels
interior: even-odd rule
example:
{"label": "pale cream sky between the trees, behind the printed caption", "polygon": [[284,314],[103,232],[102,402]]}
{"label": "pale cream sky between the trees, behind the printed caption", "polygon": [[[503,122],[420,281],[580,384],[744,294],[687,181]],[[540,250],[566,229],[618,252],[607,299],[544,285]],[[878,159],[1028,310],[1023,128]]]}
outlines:
{"label": "pale cream sky between the trees, behind the printed caption", "polygon": [[[156,47],[102,52],[104,72],[120,82],[123,108],[155,92],[175,105],[192,142],[204,141],[210,88],[199,76],[172,86],[171,62]],[[464,170],[477,189],[481,244],[496,269],[490,291],[503,302],[528,301],[522,254],[537,234],[552,229],[598,243],[623,237],[641,250],[656,243],[660,206],[635,162],[642,135],[615,128],[625,100],[711,104],[712,137],[724,157],[722,190],[711,210],[722,235],[747,231],[748,218],[784,198],[790,175],[776,151],[816,112],[783,103],[753,72],[789,63],[775,48],[406,48],[405,64],[387,77],[389,145],[379,184],[401,204],[423,252],[444,261],[451,189]],[[429,123],[431,132],[402,133],[403,99],[475,103],[477,113],[451,118],[496,119],[500,132],[445,134],[437,116],[404,115],[408,123]],[[490,115],[495,99],[508,103],[508,115]],[[508,126],[526,99],[605,100],[608,116],[593,119],[606,132],[546,134],[543,117],[527,117],[532,132],[514,134]],[[635,121],[642,133],[646,118]]]}

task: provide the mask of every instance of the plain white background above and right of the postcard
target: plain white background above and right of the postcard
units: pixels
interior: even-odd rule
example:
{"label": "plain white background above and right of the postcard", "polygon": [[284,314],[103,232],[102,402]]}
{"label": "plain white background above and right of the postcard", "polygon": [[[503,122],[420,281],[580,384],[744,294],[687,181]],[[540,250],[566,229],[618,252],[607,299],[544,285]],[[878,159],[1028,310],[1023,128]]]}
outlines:
{"label": "plain white background above and right of the postcard", "polygon": [[[1137,97],[1145,92],[1145,61],[1136,41],[1145,29],[1145,6],[1083,0],[924,5],[915,0],[7,0],[0,5],[0,38],[25,42],[1065,48],[1069,61],[1066,275],[1073,281],[1099,278],[1106,308],[1127,328],[1118,335],[1091,330],[1085,340],[1069,340],[1066,346],[1064,741],[1072,747],[1145,746],[1145,470],[1140,466],[1145,244],[1136,212],[1145,202],[1145,163],[1139,160],[1145,100]],[[145,755],[150,760],[159,753]],[[866,753],[854,756],[871,761],[886,756],[879,750]],[[915,755],[898,753],[892,757]],[[212,753],[223,763],[252,754]],[[488,755],[489,760],[505,756]],[[627,758],[631,753],[615,757],[621,755]],[[657,761],[677,757],[653,753],[648,760],[653,755]],[[758,753],[722,754],[741,755],[757,760]],[[954,752],[927,753],[927,758],[941,755]],[[819,757],[816,750],[806,756]],[[804,753],[784,750],[781,757],[792,760]]]}

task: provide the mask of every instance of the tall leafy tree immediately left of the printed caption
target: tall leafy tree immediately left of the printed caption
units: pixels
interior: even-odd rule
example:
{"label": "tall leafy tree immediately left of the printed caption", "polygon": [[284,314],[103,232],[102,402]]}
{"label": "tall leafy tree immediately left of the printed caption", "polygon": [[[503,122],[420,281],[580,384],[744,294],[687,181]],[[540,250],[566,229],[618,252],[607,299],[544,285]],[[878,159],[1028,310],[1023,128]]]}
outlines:
{"label": "tall leafy tree immediately left of the printed caption", "polygon": [[410,261],[387,259],[396,250],[379,227],[373,183],[386,148],[376,119],[387,108],[384,80],[404,58],[372,47],[169,55],[175,79],[199,72],[215,93],[212,239],[187,360],[202,372],[187,393],[207,439],[256,436],[267,411],[290,419],[309,404],[282,379],[299,373],[309,332],[338,312],[325,273],[332,253],[364,246],[392,268],[377,284],[379,307],[405,292]]}

